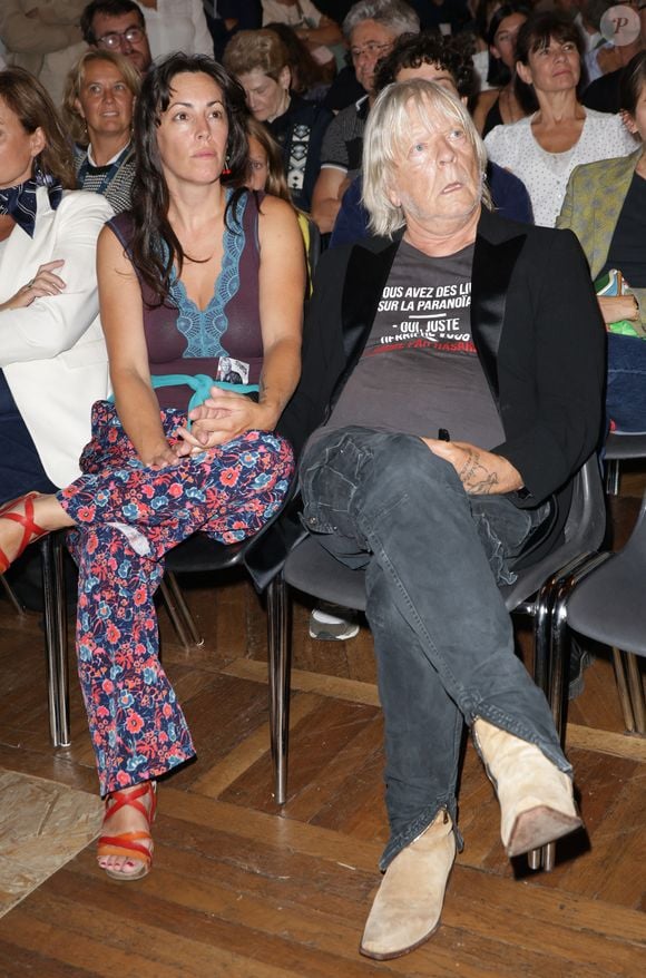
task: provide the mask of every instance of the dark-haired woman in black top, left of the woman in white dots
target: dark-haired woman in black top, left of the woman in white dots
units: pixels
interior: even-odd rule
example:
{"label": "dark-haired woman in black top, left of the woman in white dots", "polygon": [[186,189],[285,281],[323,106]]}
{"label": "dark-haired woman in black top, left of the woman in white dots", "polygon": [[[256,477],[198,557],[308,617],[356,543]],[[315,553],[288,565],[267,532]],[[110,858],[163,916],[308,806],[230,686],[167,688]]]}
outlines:
{"label": "dark-haired woman in black top, left of the woman in white dots", "polygon": [[525,3],[503,3],[493,12],[487,30],[491,85],[483,91],[473,111],[473,121],[484,137],[496,126],[508,126],[525,118],[525,109],[516,98],[516,38],[529,17]]}

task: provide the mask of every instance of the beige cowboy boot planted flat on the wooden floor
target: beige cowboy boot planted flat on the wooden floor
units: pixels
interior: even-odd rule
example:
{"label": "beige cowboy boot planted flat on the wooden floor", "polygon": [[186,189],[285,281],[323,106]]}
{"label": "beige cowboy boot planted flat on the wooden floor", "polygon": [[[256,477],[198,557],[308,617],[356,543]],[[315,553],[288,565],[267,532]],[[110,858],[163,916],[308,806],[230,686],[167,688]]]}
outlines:
{"label": "beige cowboy boot planted flat on the wooden floor", "polygon": [[430,938],[440,922],[454,859],[453,824],[442,809],[386,869],[361,938],[362,955],[385,961]]}

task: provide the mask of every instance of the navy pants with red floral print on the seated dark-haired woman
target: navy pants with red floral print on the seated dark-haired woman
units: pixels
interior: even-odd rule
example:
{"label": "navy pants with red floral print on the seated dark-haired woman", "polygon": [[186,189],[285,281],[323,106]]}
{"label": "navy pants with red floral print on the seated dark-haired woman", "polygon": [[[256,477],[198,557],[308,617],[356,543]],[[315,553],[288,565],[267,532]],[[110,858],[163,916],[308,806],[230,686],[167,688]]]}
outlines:
{"label": "navy pants with red floral print on the seated dark-haired woman", "polygon": [[[169,441],[186,423],[161,411]],[[280,507],[294,462],[265,431],[159,470],[138,460],[111,404],[92,409],[84,475],[57,498],[76,527],[77,651],[101,794],[137,784],[195,753],[158,656],[154,594],[164,555],[196,530],[224,544],[257,532]]]}

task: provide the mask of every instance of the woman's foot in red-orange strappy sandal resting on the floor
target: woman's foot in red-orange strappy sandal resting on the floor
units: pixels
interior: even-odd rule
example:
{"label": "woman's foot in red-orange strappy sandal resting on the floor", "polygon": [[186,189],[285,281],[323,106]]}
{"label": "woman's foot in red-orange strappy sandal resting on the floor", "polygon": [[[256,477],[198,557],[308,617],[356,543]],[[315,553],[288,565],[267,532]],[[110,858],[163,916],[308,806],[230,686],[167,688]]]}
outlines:
{"label": "woman's foot in red-orange strappy sandal resting on the floor", "polygon": [[140,879],[153,861],[150,825],[156,783],[146,781],[108,795],[99,839],[99,867],[112,879]]}

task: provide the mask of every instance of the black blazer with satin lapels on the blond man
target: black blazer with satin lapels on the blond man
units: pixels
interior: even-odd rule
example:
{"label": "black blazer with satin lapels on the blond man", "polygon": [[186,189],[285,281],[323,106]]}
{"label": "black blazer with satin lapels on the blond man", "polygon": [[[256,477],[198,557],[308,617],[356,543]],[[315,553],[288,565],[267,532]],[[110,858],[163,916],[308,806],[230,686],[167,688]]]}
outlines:
{"label": "black blazer with satin lapels on the blond man", "polygon": [[[301,381],[277,426],[296,454],[329,417],[363,352],[398,247],[399,241],[373,238],[329,251],[319,263]],[[492,450],[525,482],[509,498],[523,508],[554,501],[534,561],[559,539],[571,477],[601,436],[605,329],[576,236],[483,209],[471,331],[506,436]],[[270,538],[265,556],[273,549],[275,558],[280,545]]]}

